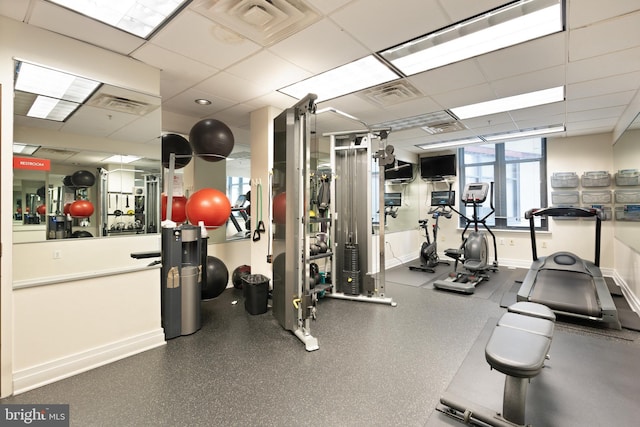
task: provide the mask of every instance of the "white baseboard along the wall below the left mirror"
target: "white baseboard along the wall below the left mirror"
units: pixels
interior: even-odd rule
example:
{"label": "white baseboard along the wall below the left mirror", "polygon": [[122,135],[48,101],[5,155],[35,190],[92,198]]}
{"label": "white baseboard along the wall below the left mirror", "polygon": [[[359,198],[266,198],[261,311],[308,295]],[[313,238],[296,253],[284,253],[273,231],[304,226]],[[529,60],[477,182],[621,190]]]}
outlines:
{"label": "white baseboard along the wall below the left mirror", "polygon": [[22,369],[13,373],[13,394],[24,393],[165,344],[164,330],[159,328],[62,359]]}

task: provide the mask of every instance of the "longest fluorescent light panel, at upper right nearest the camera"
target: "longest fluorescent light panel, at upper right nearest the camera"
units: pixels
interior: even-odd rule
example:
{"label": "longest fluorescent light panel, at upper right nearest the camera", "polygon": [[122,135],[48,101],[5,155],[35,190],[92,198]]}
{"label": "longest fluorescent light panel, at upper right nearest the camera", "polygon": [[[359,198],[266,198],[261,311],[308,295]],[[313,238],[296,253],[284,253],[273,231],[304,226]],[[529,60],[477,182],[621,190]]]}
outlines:
{"label": "longest fluorescent light panel, at upper right nearest the camera", "polygon": [[522,0],[381,52],[405,75],[562,31],[561,0]]}

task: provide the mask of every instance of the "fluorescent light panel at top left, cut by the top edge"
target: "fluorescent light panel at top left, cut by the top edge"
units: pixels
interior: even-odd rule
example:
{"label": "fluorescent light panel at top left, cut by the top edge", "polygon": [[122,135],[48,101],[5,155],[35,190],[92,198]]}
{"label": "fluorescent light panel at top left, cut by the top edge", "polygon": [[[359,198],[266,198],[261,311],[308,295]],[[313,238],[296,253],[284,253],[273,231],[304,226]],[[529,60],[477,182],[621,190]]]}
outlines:
{"label": "fluorescent light panel at top left, cut by the top edge", "polygon": [[147,38],[187,0],[49,0],[138,37]]}

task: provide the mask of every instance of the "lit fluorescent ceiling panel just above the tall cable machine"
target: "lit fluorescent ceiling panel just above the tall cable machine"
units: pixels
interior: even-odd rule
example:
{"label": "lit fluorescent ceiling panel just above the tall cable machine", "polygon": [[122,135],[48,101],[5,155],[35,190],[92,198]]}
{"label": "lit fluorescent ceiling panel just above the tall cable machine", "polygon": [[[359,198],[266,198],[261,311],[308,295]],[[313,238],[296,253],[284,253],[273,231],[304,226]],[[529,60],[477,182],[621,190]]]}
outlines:
{"label": "lit fluorescent ceiling panel just above the tall cable machine", "polygon": [[399,77],[376,57],[369,55],[279,89],[278,92],[296,99],[302,99],[307,94],[314,93],[318,96],[316,102],[322,102]]}

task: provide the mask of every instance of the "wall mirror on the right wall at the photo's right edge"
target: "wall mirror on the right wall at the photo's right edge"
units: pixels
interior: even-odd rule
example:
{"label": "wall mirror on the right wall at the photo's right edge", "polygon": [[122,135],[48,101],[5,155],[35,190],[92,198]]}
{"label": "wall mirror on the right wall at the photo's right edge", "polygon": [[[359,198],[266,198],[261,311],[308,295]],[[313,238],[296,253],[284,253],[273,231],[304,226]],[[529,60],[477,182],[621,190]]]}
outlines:
{"label": "wall mirror on the right wall at the photo's right edge", "polygon": [[[615,172],[623,169],[640,170],[640,114],[636,116],[635,120],[614,144],[613,168]],[[616,186],[616,191],[640,194],[640,185]],[[616,203],[615,209],[616,238],[635,251],[640,252],[640,203]],[[628,220],[620,220],[624,209],[632,209],[632,211],[627,211],[628,215],[624,215]]]}

